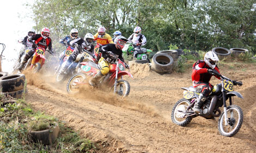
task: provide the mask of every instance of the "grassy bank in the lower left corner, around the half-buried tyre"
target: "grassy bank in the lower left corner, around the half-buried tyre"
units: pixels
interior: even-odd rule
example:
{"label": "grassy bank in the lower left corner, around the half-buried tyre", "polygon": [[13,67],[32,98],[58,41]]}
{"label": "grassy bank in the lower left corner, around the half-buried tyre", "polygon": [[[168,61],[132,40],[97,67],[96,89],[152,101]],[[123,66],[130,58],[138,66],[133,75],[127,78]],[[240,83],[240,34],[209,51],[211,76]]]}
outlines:
{"label": "grassy bank in the lower left corner, around the half-buried tyre", "polygon": [[[2,95],[0,98],[2,104],[6,99]],[[93,142],[80,137],[62,121],[34,112],[24,100],[1,106],[0,110],[0,152],[96,152]],[[59,137],[51,145],[32,143],[31,138],[28,137],[28,132],[33,126],[36,125],[33,128],[38,130],[45,128],[45,124],[34,123],[40,120],[49,123],[57,121],[59,124]],[[29,128],[29,125],[32,126]]]}

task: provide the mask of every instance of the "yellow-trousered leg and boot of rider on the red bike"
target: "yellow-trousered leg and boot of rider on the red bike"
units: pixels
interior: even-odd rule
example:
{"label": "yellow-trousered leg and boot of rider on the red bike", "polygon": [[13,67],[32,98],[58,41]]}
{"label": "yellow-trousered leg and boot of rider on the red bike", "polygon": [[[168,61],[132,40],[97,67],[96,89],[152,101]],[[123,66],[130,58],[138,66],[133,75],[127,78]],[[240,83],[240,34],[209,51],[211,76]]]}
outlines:
{"label": "yellow-trousered leg and boot of rider on the red bike", "polygon": [[93,87],[96,86],[97,81],[99,81],[99,79],[102,76],[108,74],[109,72],[109,64],[105,58],[103,57],[100,58],[99,66],[100,66],[100,71],[98,71],[97,74],[89,80],[89,84],[92,85]]}

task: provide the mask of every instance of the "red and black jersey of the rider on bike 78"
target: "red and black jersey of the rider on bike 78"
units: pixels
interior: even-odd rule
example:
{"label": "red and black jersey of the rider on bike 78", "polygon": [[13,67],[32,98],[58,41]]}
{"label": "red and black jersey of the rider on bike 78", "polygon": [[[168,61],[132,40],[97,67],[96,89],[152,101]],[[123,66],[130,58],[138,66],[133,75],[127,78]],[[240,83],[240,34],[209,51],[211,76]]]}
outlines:
{"label": "red and black jersey of the rider on bike 78", "polygon": [[[208,74],[208,69],[211,69],[211,68],[203,60],[198,60],[196,63],[194,63],[193,71],[192,71],[192,75],[191,75],[193,84],[195,81],[209,83],[212,75]],[[215,66],[214,69],[220,73],[217,65]],[[216,77],[216,78],[221,79],[220,77]],[[195,85],[193,85],[193,86],[195,86]]]}

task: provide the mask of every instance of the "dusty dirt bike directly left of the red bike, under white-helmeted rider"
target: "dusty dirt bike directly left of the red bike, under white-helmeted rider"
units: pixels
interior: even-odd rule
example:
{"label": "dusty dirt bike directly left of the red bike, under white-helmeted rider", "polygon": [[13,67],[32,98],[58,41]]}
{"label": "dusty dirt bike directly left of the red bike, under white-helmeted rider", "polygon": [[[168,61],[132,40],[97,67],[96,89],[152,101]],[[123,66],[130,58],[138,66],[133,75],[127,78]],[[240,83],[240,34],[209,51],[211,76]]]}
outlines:
{"label": "dusty dirt bike directly left of the red bike, under white-helmeted rider", "polygon": [[[84,50],[84,48],[82,48],[81,46],[77,46],[77,48],[80,48],[80,50],[82,50],[83,53],[78,54],[78,56],[76,57],[76,60],[74,62],[73,61],[71,62],[68,69],[63,74],[58,72],[58,74],[56,76],[56,82],[63,82],[63,81],[65,81],[65,79],[69,78],[70,76],[77,74],[77,71],[80,68],[80,63],[82,63],[82,62],[90,61],[90,62],[95,63],[96,57],[93,55],[93,53],[90,53],[89,51]],[[66,59],[62,63],[62,66],[61,66],[60,70],[62,68],[64,68],[64,66],[68,62],[69,56],[65,57],[65,58]]]}

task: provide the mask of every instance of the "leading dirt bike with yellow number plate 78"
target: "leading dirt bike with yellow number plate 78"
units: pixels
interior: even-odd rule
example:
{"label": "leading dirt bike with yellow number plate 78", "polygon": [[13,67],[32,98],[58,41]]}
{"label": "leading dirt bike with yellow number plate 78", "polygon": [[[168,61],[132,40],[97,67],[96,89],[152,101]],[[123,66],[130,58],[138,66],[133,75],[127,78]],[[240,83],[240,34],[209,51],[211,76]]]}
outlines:
{"label": "leading dirt bike with yellow number plate 78", "polygon": [[[232,81],[231,79],[217,74],[221,77],[221,83],[214,85],[211,94],[207,97],[202,106],[202,111],[197,114],[192,110],[194,103],[197,101],[200,93],[193,87],[181,88],[184,91],[184,99],[175,103],[172,110],[172,121],[176,125],[186,126],[193,118],[198,116],[206,119],[214,119],[214,117],[220,117],[218,119],[218,131],[222,136],[232,137],[241,128],[243,123],[242,109],[233,105],[231,97],[237,96],[243,99],[243,96],[234,91],[234,85],[242,85],[242,82]],[[226,101],[229,99],[229,106],[227,107]],[[224,107],[224,111],[221,112],[220,107]]]}

